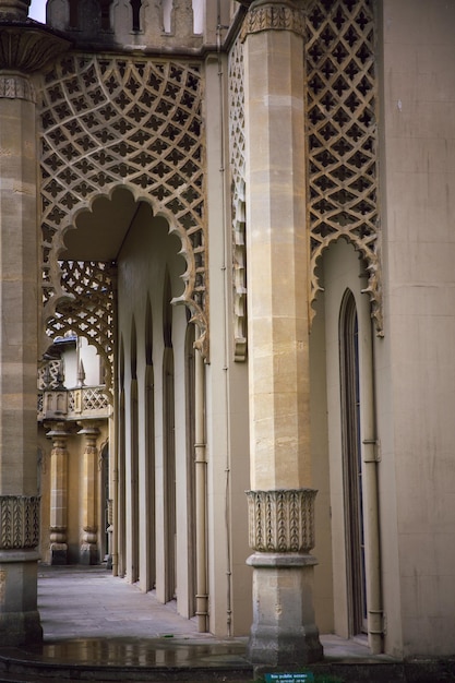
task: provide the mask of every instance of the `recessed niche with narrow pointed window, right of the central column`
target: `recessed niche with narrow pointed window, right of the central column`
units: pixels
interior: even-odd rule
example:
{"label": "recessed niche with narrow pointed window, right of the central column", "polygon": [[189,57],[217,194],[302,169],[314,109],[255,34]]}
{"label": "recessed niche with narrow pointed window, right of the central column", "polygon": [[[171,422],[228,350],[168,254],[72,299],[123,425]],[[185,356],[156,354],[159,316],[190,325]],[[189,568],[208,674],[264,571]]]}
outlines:
{"label": "recessed niche with narrow pointed window, right of the central column", "polygon": [[[363,632],[382,648],[381,554],[374,409],[374,334],[361,254],[345,238],[320,261],[323,293],[310,338],[312,462],[319,489],[315,609],[321,628]],[[356,559],[356,562],[354,562]]]}

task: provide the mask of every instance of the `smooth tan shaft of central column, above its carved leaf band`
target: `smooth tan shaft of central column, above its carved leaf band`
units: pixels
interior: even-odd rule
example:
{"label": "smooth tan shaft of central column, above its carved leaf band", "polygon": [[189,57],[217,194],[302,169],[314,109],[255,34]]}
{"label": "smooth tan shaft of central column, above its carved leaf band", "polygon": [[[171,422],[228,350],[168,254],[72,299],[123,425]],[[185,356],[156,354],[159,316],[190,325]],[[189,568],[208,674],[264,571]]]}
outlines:
{"label": "smooth tan shaft of central column, above its carved leaf band", "polygon": [[311,480],[302,39],[246,41],[248,327],[253,489]]}

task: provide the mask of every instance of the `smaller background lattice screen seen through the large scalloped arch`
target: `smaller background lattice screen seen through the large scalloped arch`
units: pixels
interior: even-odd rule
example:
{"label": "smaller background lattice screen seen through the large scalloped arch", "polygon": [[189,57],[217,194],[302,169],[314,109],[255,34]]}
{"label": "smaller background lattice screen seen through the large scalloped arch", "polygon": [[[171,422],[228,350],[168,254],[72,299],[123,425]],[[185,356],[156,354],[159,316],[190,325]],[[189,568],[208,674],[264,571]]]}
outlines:
{"label": "smaller background lattice screen seen through the large scalloped arch", "polygon": [[61,261],[59,265],[67,297],[60,300],[57,313],[47,319],[47,334],[55,338],[76,331],[87,338],[107,360],[106,386],[109,390],[115,342],[116,266],[92,261]]}

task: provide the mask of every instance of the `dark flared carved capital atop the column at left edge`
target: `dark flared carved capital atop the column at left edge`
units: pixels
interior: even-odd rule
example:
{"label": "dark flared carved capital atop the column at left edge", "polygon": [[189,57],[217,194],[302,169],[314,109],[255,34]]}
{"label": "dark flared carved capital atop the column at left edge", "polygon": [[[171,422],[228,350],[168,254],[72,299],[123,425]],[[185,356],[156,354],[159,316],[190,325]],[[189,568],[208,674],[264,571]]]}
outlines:
{"label": "dark flared carved capital atop the column at left edge", "polygon": [[34,73],[70,45],[69,40],[26,22],[0,22],[0,69]]}

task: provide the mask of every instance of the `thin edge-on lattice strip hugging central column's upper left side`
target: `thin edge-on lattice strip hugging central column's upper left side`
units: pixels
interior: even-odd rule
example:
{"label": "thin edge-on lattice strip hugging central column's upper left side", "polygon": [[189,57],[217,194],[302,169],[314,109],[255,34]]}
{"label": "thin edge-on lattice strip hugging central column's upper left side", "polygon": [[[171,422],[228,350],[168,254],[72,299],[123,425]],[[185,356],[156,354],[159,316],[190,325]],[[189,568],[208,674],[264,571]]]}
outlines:
{"label": "thin edge-on lattice strip hugging central column's upper left side", "polygon": [[229,160],[231,175],[235,359],[247,358],[247,254],[244,184],[243,45],[229,55]]}

